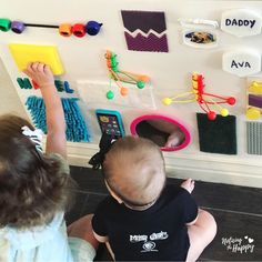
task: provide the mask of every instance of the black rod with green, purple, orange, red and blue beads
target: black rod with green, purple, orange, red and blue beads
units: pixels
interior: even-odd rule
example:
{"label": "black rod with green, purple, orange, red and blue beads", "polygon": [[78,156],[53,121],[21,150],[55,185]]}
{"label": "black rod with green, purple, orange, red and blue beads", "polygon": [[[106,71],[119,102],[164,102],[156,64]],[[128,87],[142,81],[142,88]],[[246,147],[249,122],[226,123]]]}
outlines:
{"label": "black rod with green, purple, orange, red and blue beads", "polygon": [[102,23],[97,21],[89,21],[85,24],[75,23],[71,26],[70,23],[62,23],[60,26],[52,24],[40,24],[40,23],[24,23],[21,21],[11,21],[6,18],[0,18],[0,31],[8,32],[10,29],[14,33],[22,33],[27,27],[32,28],[56,28],[59,29],[59,34],[62,37],[70,37],[71,34],[82,38],[85,33],[89,36],[97,36],[102,27]]}

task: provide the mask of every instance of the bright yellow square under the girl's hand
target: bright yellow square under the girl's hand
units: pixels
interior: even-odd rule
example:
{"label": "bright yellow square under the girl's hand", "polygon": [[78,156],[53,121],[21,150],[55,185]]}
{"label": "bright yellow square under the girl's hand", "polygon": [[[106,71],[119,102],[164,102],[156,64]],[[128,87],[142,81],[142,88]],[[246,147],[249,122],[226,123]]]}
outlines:
{"label": "bright yellow square under the girl's hand", "polygon": [[57,47],[10,43],[9,49],[20,71],[30,62],[42,62],[48,64],[56,75],[64,72]]}

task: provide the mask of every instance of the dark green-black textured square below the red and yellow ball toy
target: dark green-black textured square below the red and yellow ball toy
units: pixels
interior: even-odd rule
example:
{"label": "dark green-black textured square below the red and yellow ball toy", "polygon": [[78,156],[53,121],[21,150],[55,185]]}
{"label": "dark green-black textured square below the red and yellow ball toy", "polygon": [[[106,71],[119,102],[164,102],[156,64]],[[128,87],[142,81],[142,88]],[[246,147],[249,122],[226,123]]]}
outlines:
{"label": "dark green-black textured square below the red and yellow ball toy", "polygon": [[216,115],[214,121],[205,113],[196,113],[200,151],[221,154],[236,154],[234,115]]}

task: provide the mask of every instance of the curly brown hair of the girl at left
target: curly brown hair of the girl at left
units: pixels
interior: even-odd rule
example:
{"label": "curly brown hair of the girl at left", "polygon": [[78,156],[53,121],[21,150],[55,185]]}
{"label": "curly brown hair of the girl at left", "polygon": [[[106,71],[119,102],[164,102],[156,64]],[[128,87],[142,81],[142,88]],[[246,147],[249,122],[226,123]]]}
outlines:
{"label": "curly brown hair of the girl at left", "polygon": [[0,118],[0,228],[30,228],[69,208],[74,182],[57,154],[42,154],[24,134],[34,128],[16,115]]}

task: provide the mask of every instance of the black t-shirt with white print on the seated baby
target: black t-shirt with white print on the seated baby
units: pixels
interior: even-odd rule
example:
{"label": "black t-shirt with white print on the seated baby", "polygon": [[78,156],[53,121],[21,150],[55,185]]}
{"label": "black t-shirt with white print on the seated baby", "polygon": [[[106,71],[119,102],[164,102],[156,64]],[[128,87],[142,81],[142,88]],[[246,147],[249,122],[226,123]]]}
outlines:
{"label": "black t-shirt with white print on the seated baby", "polygon": [[109,238],[117,261],[184,261],[190,246],[185,223],[196,215],[191,194],[167,185],[158,201],[143,211],[108,196],[99,204],[92,226],[98,235]]}

